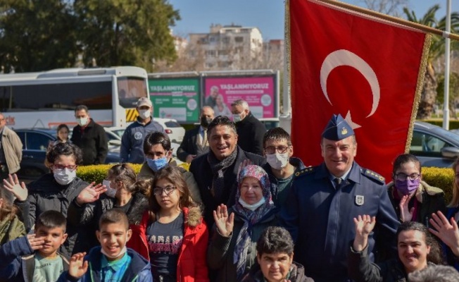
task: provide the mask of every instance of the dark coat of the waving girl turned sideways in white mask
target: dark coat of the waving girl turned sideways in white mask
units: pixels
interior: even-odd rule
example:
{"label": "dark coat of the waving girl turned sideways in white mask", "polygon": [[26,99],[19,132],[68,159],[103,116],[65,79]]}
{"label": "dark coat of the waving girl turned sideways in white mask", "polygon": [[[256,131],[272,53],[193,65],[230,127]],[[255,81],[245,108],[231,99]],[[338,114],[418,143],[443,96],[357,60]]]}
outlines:
{"label": "dark coat of the waving girl turned sideways in white mask", "polygon": [[[115,203],[115,198],[108,197],[105,194],[94,203],[78,206],[76,199],[70,203],[70,207],[68,207],[68,221],[75,226],[81,226],[80,231],[84,230],[84,233],[78,236],[73,250],[74,253],[87,252],[92,247],[100,245],[96,238],[96,231],[99,230],[99,219],[104,212],[113,209]],[[132,194],[131,206],[126,213],[130,226],[140,223],[142,215],[148,207],[149,200],[141,192]],[[131,247],[130,241],[127,241],[126,245],[127,247]]]}

